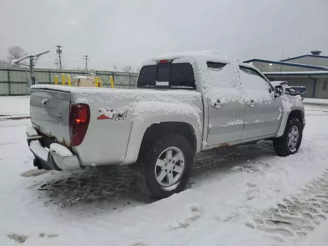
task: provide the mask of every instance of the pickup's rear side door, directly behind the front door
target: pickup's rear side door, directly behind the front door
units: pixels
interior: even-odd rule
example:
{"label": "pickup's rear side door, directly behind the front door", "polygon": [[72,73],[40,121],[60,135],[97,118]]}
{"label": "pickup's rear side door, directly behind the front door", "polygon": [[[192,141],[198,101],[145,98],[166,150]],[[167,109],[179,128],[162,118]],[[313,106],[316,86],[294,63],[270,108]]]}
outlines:
{"label": "pickup's rear side door, directly behind the front door", "polygon": [[[224,67],[226,64],[220,63],[207,63],[208,69],[213,77],[218,79],[224,77]],[[230,66],[230,65],[228,65]],[[224,98],[224,93],[226,89],[234,90],[240,88],[240,79],[237,68],[229,68],[230,77],[235,87],[231,86],[229,81],[227,81],[227,88],[220,86],[220,88],[212,88],[212,90],[217,93],[211,93],[213,98],[207,98],[208,109],[209,109],[209,130],[207,138],[207,146],[220,145],[228,142],[240,140],[240,135],[244,127],[244,116],[245,116],[245,105],[239,102],[229,101]],[[218,85],[220,83],[217,83]],[[220,94],[220,95],[219,95]]]}

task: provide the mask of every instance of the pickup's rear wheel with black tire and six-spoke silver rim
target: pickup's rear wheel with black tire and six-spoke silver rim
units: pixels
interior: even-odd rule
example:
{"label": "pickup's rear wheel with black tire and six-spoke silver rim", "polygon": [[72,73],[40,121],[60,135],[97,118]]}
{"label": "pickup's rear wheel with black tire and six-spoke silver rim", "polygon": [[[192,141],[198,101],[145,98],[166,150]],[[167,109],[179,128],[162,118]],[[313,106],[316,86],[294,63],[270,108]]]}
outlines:
{"label": "pickup's rear wheel with black tire and six-spoke silver rim", "polygon": [[158,138],[139,163],[138,186],[155,199],[182,191],[190,178],[193,157],[185,137],[168,134]]}

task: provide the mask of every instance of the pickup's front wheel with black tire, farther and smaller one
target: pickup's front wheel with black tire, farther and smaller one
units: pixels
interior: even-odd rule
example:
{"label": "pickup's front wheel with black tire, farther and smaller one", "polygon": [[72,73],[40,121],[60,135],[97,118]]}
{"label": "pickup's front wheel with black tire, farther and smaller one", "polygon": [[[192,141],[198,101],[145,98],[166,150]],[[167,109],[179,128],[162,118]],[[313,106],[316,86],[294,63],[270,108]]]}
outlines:
{"label": "pickup's front wheel with black tire, farther and smaller one", "polygon": [[[298,137],[295,136],[295,131],[298,132]],[[291,136],[290,136],[291,134]],[[277,155],[288,156],[295,154],[302,141],[303,125],[299,118],[292,118],[287,121],[285,131],[281,137],[273,139],[273,148]],[[292,139],[290,139],[290,137]],[[294,138],[294,140],[293,140]],[[289,140],[291,140],[289,142]]]}

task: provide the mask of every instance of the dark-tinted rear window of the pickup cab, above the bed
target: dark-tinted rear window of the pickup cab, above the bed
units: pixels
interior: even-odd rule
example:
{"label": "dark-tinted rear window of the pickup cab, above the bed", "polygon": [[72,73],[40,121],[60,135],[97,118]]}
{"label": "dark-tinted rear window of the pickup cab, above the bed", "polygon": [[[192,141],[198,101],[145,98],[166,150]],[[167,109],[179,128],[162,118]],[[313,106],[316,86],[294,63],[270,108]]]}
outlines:
{"label": "dark-tinted rear window of the pickup cab, above the bed", "polygon": [[140,70],[137,87],[195,90],[194,71],[189,63],[145,66]]}

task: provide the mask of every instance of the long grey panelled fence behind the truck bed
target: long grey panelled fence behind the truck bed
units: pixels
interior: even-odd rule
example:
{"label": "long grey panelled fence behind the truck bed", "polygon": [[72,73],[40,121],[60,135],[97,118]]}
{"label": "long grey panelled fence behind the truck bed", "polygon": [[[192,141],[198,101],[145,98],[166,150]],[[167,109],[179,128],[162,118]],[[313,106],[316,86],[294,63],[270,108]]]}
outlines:
{"label": "long grey panelled fence behind the truck bed", "polygon": [[[110,76],[113,76],[115,88],[132,89],[135,87],[138,74],[112,71],[92,71],[95,76],[101,77],[104,87],[110,87]],[[58,84],[61,83],[61,74],[87,75],[83,70],[49,70],[34,69],[35,84],[54,84],[54,76],[58,76]],[[27,68],[0,67],[0,95],[28,95],[30,93],[31,78]]]}

